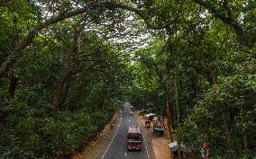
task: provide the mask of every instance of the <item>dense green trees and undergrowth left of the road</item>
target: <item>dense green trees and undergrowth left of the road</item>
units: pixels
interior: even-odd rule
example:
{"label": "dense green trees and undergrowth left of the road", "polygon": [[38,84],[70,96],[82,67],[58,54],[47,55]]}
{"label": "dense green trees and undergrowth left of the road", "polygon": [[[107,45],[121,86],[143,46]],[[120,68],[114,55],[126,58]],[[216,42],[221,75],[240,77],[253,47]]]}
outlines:
{"label": "dense green trees and undergrowth left of the road", "polygon": [[[1,4],[1,64],[48,13],[63,12],[60,6],[71,3]],[[0,158],[72,155],[123,107],[119,99],[130,83],[129,59],[96,31],[84,29],[93,16],[41,29],[0,79]]]}

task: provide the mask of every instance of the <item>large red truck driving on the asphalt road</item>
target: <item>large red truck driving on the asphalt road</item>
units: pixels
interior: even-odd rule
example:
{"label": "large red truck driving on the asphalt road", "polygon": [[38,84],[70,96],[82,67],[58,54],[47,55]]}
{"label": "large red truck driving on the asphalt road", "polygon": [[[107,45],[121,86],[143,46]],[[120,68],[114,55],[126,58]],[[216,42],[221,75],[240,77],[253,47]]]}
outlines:
{"label": "large red truck driving on the asphalt road", "polygon": [[142,151],[142,133],[139,125],[131,125],[126,137],[127,150]]}

